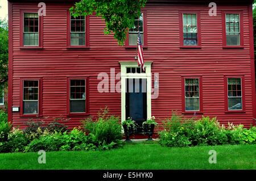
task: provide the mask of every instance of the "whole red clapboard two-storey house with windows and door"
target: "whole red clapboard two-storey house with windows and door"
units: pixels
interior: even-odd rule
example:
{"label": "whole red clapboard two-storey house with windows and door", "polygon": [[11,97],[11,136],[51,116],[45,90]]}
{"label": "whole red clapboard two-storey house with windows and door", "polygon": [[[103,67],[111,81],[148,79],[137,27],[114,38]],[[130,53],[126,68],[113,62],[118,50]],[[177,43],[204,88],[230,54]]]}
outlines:
{"label": "whole red clapboard two-storey house with windows and door", "polygon": [[[255,120],[252,1],[149,0],[125,45],[75,1],[9,0],[9,120],[64,117],[69,128],[108,106],[113,115],[159,123],[172,111],[250,127]],[[213,6],[214,7],[214,6]],[[141,33],[145,72],[138,68]],[[121,73],[121,74],[120,74]],[[120,88],[121,87],[121,88]],[[151,92],[151,87],[152,91]],[[129,91],[126,91],[129,90]]]}

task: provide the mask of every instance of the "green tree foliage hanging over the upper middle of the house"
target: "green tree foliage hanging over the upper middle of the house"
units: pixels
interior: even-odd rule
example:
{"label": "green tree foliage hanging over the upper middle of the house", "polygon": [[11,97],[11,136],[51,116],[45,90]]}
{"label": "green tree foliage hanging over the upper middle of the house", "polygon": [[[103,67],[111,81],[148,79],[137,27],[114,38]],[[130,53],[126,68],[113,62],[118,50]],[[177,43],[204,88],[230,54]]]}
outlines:
{"label": "green tree foliage hanging over the upper middle of the house", "polygon": [[105,20],[104,33],[114,33],[119,45],[126,40],[128,28],[134,26],[134,19],[141,14],[141,7],[146,5],[147,0],[81,0],[71,7],[71,15],[88,16],[95,13]]}

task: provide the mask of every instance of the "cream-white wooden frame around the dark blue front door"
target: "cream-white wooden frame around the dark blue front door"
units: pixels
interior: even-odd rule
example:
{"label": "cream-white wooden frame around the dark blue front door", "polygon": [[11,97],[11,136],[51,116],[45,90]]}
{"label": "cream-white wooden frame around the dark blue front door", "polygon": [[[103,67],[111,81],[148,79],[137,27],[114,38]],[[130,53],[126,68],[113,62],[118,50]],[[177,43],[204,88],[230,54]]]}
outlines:
{"label": "cream-white wooden frame around the dark blue front door", "polygon": [[143,78],[147,79],[147,119],[151,118],[151,61],[144,62],[146,73],[126,73],[126,68],[138,67],[138,62],[120,61],[121,65],[121,122],[125,121],[126,117],[126,79],[127,78]]}

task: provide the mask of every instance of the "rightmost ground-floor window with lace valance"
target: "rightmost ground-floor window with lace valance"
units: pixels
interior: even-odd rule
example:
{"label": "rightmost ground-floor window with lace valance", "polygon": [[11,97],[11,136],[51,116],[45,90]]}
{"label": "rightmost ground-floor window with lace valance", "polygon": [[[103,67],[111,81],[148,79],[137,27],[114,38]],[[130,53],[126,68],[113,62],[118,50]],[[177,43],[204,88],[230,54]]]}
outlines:
{"label": "rightmost ground-floor window with lace valance", "polygon": [[228,78],[228,110],[242,110],[241,78]]}

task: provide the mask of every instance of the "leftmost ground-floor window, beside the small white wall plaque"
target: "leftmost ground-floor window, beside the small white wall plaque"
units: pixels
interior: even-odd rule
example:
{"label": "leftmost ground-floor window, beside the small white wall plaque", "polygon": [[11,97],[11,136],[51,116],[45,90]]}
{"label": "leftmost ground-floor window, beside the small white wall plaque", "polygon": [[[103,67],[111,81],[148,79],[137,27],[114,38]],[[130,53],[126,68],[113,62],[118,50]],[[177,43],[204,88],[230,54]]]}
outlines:
{"label": "leftmost ground-floor window, beside the small white wall plaque", "polygon": [[39,81],[23,81],[23,114],[38,114]]}

